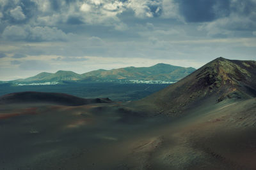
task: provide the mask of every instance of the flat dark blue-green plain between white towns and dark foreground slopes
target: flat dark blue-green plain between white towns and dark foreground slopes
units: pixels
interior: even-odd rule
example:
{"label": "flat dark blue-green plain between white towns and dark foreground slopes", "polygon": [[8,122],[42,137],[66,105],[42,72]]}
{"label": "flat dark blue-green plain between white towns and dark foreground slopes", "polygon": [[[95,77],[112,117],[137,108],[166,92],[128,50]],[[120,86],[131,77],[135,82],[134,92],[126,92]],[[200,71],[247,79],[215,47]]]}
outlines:
{"label": "flat dark blue-green plain between white towns and dark foreground slopes", "polygon": [[113,101],[135,101],[157,92],[169,84],[118,83],[118,82],[67,82],[56,85],[13,85],[0,84],[0,96],[13,92],[60,92],[77,97],[109,97]]}

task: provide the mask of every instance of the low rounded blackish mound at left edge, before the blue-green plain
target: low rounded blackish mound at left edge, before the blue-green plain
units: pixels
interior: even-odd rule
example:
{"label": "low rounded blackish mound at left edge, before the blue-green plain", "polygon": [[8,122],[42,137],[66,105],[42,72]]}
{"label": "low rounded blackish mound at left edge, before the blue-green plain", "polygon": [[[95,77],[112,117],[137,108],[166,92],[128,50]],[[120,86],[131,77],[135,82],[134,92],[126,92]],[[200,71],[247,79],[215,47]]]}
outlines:
{"label": "low rounded blackish mound at left edge, before the blue-green plain", "polygon": [[76,96],[49,92],[17,92],[0,97],[0,104],[10,103],[52,103],[66,106],[80,106],[93,103],[111,103],[106,99],[83,99]]}

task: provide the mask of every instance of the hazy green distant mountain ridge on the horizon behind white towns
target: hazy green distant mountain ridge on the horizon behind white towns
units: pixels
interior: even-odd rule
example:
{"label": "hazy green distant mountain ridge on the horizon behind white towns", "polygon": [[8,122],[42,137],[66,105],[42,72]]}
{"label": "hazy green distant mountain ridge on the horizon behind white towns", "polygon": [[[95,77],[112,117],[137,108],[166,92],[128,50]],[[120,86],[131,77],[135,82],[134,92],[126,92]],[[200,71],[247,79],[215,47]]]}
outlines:
{"label": "hazy green distant mountain ridge on the horizon behind white towns", "polygon": [[170,64],[156,64],[151,67],[124,67],[119,69],[98,69],[88,73],[77,74],[73,71],[57,71],[56,73],[39,73],[18,82],[46,82],[46,81],[100,81],[100,80],[168,80],[179,81],[192,73],[193,67],[172,66]]}

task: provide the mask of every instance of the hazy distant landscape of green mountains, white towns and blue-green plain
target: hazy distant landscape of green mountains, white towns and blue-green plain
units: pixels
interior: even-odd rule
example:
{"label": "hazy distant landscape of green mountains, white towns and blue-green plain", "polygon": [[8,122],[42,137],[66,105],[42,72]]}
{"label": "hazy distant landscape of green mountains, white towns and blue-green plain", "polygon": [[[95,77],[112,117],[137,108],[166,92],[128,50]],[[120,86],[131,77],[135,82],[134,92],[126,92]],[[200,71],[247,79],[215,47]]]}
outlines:
{"label": "hazy distant landscape of green mountains, white towns and blue-green plain", "polygon": [[136,101],[157,92],[195,71],[194,68],[156,64],[77,74],[72,71],[40,73],[0,84],[0,95],[12,92],[61,92],[78,97],[109,97],[113,101]]}

